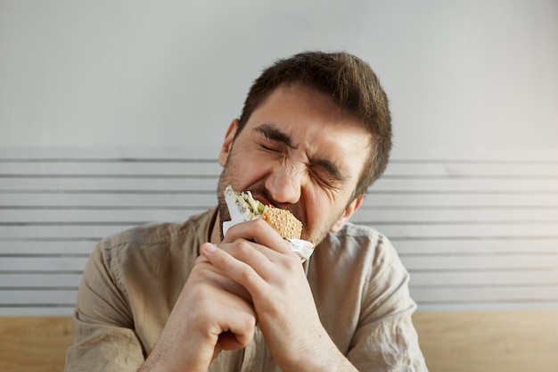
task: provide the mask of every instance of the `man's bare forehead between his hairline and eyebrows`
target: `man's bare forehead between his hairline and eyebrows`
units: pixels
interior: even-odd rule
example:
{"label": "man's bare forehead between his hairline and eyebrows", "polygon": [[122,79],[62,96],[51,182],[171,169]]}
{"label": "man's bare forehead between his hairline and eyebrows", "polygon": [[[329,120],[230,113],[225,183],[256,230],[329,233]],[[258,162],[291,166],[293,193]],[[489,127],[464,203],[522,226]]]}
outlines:
{"label": "man's bare forehead between his hairline and eyebrows", "polygon": [[243,130],[258,135],[262,126],[281,131],[304,156],[335,161],[351,173],[360,174],[372,144],[360,120],[328,95],[300,85],[277,88],[252,112]]}

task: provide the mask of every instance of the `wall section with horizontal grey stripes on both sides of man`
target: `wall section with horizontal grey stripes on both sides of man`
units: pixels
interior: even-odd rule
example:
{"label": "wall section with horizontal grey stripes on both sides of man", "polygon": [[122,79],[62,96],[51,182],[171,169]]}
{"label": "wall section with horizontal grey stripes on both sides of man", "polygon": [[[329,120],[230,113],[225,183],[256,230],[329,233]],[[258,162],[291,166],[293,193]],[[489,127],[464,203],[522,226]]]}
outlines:
{"label": "wall section with horizontal grey stripes on both sides of man", "polygon": [[[70,315],[104,236],[212,208],[215,151],[0,149],[0,315]],[[399,155],[352,221],[419,310],[558,307],[558,153]]]}

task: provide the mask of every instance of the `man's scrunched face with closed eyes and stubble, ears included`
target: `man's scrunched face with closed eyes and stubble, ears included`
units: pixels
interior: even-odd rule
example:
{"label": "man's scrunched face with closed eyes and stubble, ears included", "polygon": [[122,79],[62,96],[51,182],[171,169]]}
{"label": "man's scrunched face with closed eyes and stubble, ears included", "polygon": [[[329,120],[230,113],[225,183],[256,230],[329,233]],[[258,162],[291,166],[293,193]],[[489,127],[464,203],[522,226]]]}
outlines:
{"label": "man's scrunched face with closed eyes and stubble, ears included", "polygon": [[302,239],[318,244],[357,210],[353,198],[371,136],[353,117],[308,87],[279,87],[252,112],[234,138],[229,127],[219,162],[219,215],[230,219],[223,191],[247,191],[261,203],[291,211],[302,221]]}

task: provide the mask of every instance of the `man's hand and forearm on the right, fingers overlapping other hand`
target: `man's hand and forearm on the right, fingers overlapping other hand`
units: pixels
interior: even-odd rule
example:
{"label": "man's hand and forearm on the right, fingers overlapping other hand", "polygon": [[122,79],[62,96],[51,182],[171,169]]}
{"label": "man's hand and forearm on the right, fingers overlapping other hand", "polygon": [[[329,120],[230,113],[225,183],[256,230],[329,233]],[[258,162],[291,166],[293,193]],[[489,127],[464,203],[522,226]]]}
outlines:
{"label": "man's hand and forearm on the right, fingers overlapping other hand", "polygon": [[250,293],[267,347],[283,371],[355,370],[324,330],[300,257],[262,219],[231,227],[201,254]]}

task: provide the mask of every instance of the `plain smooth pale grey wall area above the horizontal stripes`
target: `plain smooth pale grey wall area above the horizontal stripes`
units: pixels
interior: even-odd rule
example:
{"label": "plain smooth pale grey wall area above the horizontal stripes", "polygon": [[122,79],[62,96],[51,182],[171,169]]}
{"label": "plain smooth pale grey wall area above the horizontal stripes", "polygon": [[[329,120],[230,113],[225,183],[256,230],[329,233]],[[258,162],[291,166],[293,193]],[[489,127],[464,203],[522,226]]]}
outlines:
{"label": "plain smooth pale grey wall area above the horizontal stripes", "polygon": [[555,0],[0,2],[0,147],[220,144],[258,72],[370,62],[396,152],[555,147]]}

